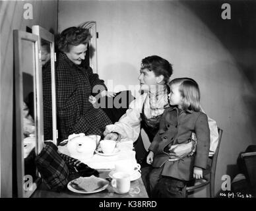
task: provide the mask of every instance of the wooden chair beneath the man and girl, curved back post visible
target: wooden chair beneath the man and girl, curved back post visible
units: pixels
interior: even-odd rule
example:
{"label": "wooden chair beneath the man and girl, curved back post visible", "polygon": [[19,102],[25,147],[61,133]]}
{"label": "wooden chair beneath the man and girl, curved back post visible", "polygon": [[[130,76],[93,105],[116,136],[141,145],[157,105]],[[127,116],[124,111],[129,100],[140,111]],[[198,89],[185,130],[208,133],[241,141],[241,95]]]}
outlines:
{"label": "wooden chair beneath the man and girl, curved back post visible", "polygon": [[[210,185],[210,198],[214,197],[215,172],[216,172],[218,150],[220,148],[221,138],[222,138],[222,129],[218,128],[218,146],[217,146],[216,151],[215,151],[214,155],[212,156],[212,158],[209,158],[209,159],[212,159],[212,162],[211,162],[212,165],[211,165],[208,173],[205,173],[205,175],[203,176],[203,179],[199,179],[197,181],[198,184],[191,185],[191,186],[187,185],[187,187],[185,187],[185,197],[186,198],[189,194],[193,193],[197,189],[201,189],[202,187],[206,187],[207,185]],[[208,176],[208,177],[206,177],[206,176]],[[193,183],[195,183],[195,181],[193,181]]]}

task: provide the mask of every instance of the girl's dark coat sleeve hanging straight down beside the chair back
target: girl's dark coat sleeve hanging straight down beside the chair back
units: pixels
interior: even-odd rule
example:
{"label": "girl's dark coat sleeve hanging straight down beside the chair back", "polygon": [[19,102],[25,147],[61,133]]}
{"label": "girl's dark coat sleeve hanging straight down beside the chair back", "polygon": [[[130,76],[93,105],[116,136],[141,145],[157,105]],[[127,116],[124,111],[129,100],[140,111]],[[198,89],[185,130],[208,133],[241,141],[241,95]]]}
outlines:
{"label": "girl's dark coat sleeve hanging straight down beside the chair back", "polygon": [[210,148],[210,129],[205,113],[201,113],[195,122],[195,135],[197,136],[197,148],[194,166],[206,169]]}

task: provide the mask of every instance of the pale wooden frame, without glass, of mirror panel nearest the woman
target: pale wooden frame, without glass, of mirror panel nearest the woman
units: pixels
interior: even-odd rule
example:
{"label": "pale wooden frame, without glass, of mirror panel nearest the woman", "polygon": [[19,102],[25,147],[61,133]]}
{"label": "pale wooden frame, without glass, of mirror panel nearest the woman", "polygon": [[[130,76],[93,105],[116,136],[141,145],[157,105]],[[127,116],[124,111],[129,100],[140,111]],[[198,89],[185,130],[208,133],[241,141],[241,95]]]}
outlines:
{"label": "pale wooden frame, without glass, of mirror panel nearest the woman", "polygon": [[[51,49],[51,102],[52,102],[52,125],[53,125],[53,143],[57,146],[57,115],[56,115],[56,93],[55,93],[55,51],[54,51],[54,35],[51,32],[48,32],[45,28],[41,26],[32,26],[32,33],[36,34],[39,37],[39,54],[40,54],[40,74],[42,75],[42,61],[41,61],[41,40],[44,39],[50,43]],[[42,77],[41,77],[42,78]],[[42,82],[40,84],[40,89],[43,90]],[[42,99],[41,102],[43,102]],[[42,108],[43,109],[43,108]],[[43,113],[43,111],[42,111]],[[44,125],[40,127],[42,129],[42,133],[44,134]],[[43,138],[44,140],[44,138]],[[43,145],[43,143],[42,143]]]}

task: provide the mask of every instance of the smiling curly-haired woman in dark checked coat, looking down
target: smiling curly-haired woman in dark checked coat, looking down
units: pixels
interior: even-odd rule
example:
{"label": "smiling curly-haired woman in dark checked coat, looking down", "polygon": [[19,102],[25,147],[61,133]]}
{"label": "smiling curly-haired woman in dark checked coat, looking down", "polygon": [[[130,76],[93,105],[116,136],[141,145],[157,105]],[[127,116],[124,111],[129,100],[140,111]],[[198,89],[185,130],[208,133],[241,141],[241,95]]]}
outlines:
{"label": "smiling curly-haired woman in dark checked coat, looking down", "polygon": [[91,35],[87,29],[70,27],[58,41],[59,55],[56,68],[56,104],[58,142],[73,133],[102,135],[106,125],[112,123],[102,109],[89,102],[94,86],[100,86],[101,96],[113,96],[104,80],[81,65]]}

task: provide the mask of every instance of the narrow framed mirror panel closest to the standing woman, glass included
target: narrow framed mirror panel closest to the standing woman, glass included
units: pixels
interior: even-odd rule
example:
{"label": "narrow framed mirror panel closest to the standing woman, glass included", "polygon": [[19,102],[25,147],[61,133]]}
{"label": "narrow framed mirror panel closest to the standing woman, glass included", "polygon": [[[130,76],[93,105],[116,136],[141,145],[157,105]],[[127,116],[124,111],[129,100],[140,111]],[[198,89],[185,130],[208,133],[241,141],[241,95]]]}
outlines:
{"label": "narrow framed mirror panel closest to the standing woman, glass included", "polygon": [[40,73],[42,73],[44,140],[57,145],[55,103],[55,53],[54,35],[40,26],[32,26],[32,33],[39,36]]}

